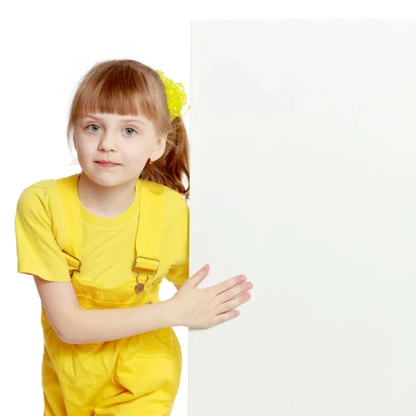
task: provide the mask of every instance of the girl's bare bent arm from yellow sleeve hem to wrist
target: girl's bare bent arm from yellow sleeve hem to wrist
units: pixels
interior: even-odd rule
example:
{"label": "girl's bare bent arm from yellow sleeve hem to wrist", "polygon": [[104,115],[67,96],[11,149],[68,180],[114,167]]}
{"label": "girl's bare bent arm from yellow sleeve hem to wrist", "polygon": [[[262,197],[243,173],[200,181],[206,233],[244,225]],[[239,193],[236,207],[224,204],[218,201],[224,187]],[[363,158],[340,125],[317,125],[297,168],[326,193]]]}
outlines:
{"label": "girl's bare bent arm from yellow sleeve hem to wrist", "polygon": [[37,275],[33,279],[49,322],[64,343],[101,343],[180,325],[175,322],[171,300],[128,308],[82,309],[71,281],[48,281]]}

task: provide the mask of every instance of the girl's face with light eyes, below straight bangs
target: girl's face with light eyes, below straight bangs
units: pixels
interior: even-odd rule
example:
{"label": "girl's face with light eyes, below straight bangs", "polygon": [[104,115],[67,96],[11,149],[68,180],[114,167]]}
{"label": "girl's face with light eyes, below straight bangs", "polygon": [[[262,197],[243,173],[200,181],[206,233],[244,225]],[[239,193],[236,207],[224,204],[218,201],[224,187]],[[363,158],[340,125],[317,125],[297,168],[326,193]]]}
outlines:
{"label": "girl's face with light eyes, below straight bangs", "polygon": [[[87,114],[78,119],[74,133],[81,168],[103,186],[135,184],[148,159],[159,159],[166,148],[166,135],[156,137],[153,122],[146,116]],[[118,165],[106,167],[97,160]]]}

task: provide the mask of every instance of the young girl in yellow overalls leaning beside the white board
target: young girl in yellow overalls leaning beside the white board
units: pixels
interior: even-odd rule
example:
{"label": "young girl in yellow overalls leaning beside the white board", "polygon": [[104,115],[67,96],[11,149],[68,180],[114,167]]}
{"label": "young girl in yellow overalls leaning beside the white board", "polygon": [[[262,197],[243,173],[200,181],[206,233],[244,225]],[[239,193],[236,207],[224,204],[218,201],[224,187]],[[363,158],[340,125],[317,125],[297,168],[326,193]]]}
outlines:
{"label": "young girl in yellow overalls leaning beside the white board", "polygon": [[[181,87],[135,60],[96,64],[69,114],[82,171],[17,202],[17,271],[42,302],[45,416],[171,415],[182,370],[172,327],[212,327],[250,298],[242,276],[198,288],[207,264],[189,278]],[[178,291],[161,302],[164,277]]]}

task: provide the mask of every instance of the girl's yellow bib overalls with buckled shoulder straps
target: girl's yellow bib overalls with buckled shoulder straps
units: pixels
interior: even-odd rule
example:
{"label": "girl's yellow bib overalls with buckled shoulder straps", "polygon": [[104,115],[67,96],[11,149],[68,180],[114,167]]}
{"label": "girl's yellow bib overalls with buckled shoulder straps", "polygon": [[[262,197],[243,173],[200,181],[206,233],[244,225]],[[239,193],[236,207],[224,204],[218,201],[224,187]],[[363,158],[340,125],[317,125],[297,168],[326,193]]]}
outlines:
{"label": "girl's yellow bib overalls with buckled shoulder straps", "polygon": [[[83,309],[125,308],[159,302],[168,263],[159,258],[166,206],[153,182],[138,180],[139,223],[132,275],[114,289],[83,284],[80,261],[78,175],[56,180],[64,221],[60,249]],[[168,416],[180,385],[182,354],[171,327],[103,343],[67,344],[42,306],[44,416]],[[103,324],[105,324],[103,322]]]}

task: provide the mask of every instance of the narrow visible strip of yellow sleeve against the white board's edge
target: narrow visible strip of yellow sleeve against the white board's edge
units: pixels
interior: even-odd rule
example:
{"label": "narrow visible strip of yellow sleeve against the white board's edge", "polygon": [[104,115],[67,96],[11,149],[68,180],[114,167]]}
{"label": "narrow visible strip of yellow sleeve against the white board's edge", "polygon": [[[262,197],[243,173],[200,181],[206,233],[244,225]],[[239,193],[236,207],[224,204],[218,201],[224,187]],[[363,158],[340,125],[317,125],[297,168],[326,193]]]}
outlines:
{"label": "narrow visible strip of yellow sleeve against the white board's edge", "polygon": [[182,195],[180,196],[179,205],[179,213],[173,229],[177,261],[169,268],[165,277],[173,284],[181,285],[189,279],[189,205]]}

